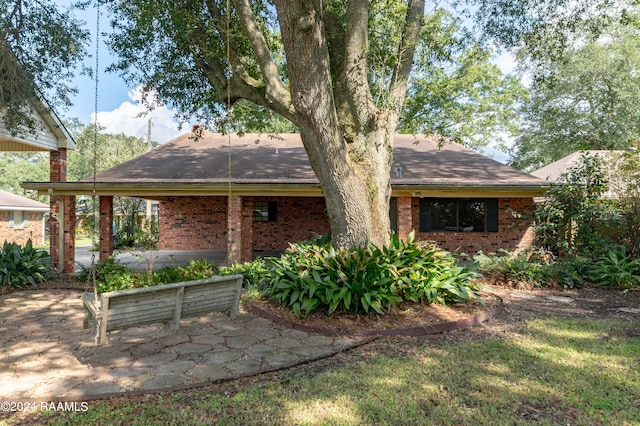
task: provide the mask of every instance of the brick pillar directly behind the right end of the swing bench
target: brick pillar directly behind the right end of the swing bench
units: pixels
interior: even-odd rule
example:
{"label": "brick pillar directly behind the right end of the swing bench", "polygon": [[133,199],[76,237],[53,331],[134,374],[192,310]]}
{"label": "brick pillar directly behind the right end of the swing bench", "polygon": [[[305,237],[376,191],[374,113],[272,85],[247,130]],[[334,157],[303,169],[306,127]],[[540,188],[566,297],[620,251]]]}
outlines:
{"label": "brick pillar directly behind the right end of the swing bench", "polygon": [[232,195],[228,200],[227,265],[253,260],[253,202]]}

